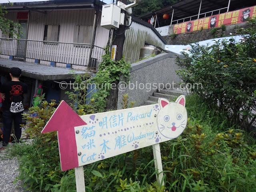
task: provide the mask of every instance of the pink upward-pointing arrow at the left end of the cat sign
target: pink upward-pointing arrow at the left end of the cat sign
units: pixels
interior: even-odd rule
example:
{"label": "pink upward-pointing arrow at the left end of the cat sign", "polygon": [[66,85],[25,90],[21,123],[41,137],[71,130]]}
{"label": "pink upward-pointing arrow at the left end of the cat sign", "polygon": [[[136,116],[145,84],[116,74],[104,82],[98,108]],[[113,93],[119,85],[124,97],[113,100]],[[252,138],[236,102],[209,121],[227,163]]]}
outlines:
{"label": "pink upward-pointing arrow at the left end of the cat sign", "polygon": [[74,127],[87,125],[64,101],[56,108],[42,133],[58,131],[61,170],[78,167],[76,136]]}

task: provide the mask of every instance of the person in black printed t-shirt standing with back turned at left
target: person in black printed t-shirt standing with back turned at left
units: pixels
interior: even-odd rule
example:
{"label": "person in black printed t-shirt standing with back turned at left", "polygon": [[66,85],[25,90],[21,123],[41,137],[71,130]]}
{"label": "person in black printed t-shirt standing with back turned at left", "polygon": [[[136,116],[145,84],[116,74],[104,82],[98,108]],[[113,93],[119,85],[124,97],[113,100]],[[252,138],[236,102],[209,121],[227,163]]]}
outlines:
{"label": "person in black printed t-shirt standing with back turned at left", "polygon": [[20,140],[22,124],[22,111],[24,110],[23,106],[23,94],[28,92],[27,84],[20,82],[19,78],[21,76],[20,68],[13,67],[10,69],[11,81],[6,82],[2,85],[0,89],[0,96],[3,98],[2,106],[2,119],[4,125],[3,133],[3,146],[4,149],[10,140],[10,134],[12,131],[12,121],[14,121],[14,138],[16,142]]}

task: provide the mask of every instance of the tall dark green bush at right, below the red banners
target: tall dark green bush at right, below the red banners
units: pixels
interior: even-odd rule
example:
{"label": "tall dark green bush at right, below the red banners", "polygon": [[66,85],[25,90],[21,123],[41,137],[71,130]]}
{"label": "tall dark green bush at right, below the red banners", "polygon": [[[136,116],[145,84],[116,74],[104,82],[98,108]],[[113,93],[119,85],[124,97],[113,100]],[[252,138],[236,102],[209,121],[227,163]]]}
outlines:
{"label": "tall dark green bush at right, below the red banners", "polygon": [[250,128],[256,115],[256,22],[247,30],[240,29],[244,41],[216,41],[212,46],[191,45],[186,58],[177,58],[183,69],[178,75],[186,83],[202,84],[192,87],[203,102],[226,112],[228,120],[238,127]]}

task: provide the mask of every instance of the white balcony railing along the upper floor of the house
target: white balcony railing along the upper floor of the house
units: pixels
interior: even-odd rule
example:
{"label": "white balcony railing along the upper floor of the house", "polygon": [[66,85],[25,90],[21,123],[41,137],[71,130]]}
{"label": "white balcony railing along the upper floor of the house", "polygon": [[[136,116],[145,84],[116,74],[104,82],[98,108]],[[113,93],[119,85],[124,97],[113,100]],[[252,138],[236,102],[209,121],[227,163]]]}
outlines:
{"label": "white balcony railing along the upper floor of the house", "polygon": [[91,52],[90,44],[0,38],[0,54],[97,67],[104,49],[94,45]]}

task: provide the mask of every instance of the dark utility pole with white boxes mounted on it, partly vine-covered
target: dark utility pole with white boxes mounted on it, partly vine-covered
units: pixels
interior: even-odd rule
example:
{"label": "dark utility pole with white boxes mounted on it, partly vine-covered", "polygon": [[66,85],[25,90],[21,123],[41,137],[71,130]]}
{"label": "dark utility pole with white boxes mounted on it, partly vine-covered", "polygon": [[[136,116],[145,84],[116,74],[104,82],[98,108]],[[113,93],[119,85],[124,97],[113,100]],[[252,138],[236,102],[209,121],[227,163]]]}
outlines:
{"label": "dark utility pole with white boxes mounted on it, partly vine-covered", "polygon": [[[120,2],[126,4],[126,0],[120,0]],[[121,10],[121,12],[124,12]],[[123,56],[123,47],[124,47],[124,40],[125,40],[125,32],[126,29],[125,25],[120,25],[117,30],[114,30],[115,33],[113,34],[113,42],[112,45],[116,45],[116,61],[122,59]],[[116,110],[117,109],[117,101],[118,101],[118,84],[119,80],[116,80],[112,83],[112,88],[110,90],[110,94],[108,96],[107,101],[107,109]]]}

